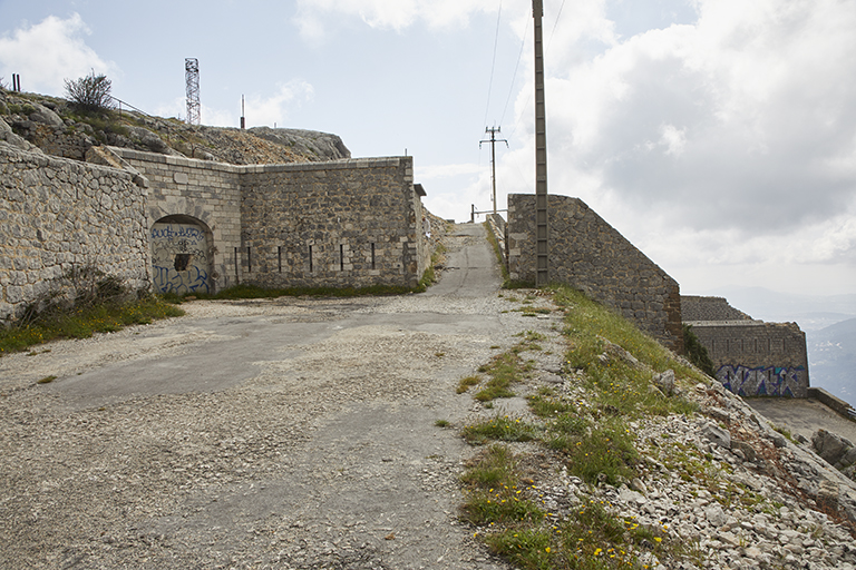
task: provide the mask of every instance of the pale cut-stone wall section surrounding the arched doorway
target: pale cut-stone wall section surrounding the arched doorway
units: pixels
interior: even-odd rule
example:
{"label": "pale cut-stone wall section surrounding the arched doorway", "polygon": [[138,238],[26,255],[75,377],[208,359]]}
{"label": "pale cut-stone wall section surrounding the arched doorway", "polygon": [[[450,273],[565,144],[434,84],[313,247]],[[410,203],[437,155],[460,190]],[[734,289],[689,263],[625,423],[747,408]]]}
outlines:
{"label": "pale cut-stone wall section surrounding the arched doorway", "polygon": [[148,179],[148,230],[164,218],[195,222],[208,236],[208,291],[241,283],[241,177],[245,167],[119,147],[110,150]]}

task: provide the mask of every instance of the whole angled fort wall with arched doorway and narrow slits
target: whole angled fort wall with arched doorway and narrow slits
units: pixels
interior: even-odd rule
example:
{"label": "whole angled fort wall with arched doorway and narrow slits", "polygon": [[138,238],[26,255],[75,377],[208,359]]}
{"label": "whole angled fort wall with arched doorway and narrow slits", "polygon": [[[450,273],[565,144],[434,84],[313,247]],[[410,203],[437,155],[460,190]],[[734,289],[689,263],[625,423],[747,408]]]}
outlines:
{"label": "whole angled fort wall with arched doorway and narrow slits", "polygon": [[[164,234],[155,223],[207,236],[198,254],[179,249],[182,239],[156,246],[156,277],[168,291],[412,287],[430,263],[411,157],[235,166],[111,150],[148,180],[153,242]],[[206,256],[206,277],[201,266],[179,271],[188,254],[191,263]]]}

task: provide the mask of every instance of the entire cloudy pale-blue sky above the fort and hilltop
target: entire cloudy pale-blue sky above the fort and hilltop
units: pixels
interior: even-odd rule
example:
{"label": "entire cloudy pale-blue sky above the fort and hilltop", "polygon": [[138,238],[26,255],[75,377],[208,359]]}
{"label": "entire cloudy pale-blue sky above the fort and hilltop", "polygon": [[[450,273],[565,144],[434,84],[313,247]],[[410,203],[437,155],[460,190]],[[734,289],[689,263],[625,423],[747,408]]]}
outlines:
{"label": "entire cloudy pale-blue sky above the fort and hilltop", "polygon": [[[531,0],[0,0],[0,77],[412,155],[436,214],[534,191]],[[544,0],[549,191],[681,283],[856,293],[856,0]]]}

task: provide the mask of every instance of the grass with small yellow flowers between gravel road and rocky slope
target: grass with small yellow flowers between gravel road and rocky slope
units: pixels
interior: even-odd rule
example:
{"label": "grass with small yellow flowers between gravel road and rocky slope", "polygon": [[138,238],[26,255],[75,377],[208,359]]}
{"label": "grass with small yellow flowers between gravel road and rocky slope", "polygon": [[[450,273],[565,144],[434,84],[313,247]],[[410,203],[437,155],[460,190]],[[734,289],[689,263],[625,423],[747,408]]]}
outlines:
{"label": "grass with small yellow flowers between gravel road and rocky slope", "polygon": [[[654,568],[663,560],[699,564],[692,541],[641,524],[596,489],[630,484],[638,476],[643,462],[635,422],[691,415],[697,405],[679,386],[706,382],[704,375],[582,293],[564,286],[549,293],[565,314],[562,375],[571,382],[529,384],[526,413],[481,414],[461,429],[468,443],[483,446],[461,475],[461,518],[493,552],[525,569]],[[543,341],[538,333],[523,333],[512,350],[463,379],[458,393],[471,393],[486,407],[515,395],[515,386],[531,377],[525,353],[542,350]],[[675,387],[658,386],[667,371],[674,372]],[[545,499],[539,479],[555,473],[577,483],[574,500]]]}

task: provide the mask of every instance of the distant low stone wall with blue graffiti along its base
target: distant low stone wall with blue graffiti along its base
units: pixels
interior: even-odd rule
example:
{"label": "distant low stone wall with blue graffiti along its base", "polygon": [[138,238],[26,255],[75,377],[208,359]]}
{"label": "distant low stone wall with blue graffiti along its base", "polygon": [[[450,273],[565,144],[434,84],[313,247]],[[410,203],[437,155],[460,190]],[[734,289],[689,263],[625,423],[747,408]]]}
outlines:
{"label": "distant low stone wall with blue graffiti along its base", "polygon": [[717,379],[746,396],[808,397],[806,335],[796,323],[693,321]]}

